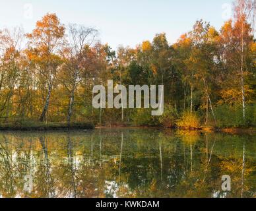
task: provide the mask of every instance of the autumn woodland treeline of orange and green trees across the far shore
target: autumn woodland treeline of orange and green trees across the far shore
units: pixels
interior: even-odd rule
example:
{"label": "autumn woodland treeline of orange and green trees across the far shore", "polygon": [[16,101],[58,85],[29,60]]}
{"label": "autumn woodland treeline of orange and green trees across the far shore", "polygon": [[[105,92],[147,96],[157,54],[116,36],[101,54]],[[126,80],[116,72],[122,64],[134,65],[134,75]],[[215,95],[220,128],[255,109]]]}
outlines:
{"label": "autumn woodland treeline of orange and green trees across the far shore", "polygon": [[[20,28],[0,30],[1,125],[255,126],[253,20],[255,1],[237,0],[234,18],[220,30],[197,20],[175,44],[162,33],[117,51],[98,41],[96,29],[65,26],[55,14],[45,15],[28,34]],[[164,84],[164,115],[152,117],[150,109],[94,109],[93,86],[107,86],[110,79],[125,86]]]}

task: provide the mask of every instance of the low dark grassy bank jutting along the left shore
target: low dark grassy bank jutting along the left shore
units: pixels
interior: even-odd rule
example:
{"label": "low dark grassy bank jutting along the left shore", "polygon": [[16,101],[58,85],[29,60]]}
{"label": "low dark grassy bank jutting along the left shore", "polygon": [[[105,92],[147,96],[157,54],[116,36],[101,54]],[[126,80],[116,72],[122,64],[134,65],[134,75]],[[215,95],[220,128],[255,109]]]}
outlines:
{"label": "low dark grassy bank jutting along the left shore", "polygon": [[92,123],[41,123],[26,121],[21,123],[2,123],[0,131],[60,131],[60,130],[92,130]]}

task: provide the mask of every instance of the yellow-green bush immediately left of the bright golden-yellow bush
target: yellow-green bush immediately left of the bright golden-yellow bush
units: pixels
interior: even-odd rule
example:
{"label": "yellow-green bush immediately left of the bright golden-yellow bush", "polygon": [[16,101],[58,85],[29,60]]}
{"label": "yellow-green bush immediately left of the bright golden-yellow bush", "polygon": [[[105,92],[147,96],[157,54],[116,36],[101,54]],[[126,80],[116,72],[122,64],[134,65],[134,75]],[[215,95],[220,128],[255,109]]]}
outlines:
{"label": "yellow-green bush immediately left of the bright golden-yellow bush", "polygon": [[160,116],[159,122],[164,127],[171,128],[176,125],[177,116],[177,109],[174,106],[168,104],[164,107],[164,114]]}

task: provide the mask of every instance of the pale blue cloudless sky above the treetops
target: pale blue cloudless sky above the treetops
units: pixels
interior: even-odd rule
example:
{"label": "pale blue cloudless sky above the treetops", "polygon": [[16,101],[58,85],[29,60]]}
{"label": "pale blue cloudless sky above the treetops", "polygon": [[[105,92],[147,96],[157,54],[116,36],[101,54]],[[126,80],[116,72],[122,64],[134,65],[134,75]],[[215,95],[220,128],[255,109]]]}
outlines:
{"label": "pale blue cloudless sky above the treetops", "polygon": [[[115,49],[135,45],[166,32],[170,44],[191,30],[203,18],[217,29],[228,17],[224,4],[232,0],[0,0],[0,28],[22,26],[30,32],[36,20],[46,13],[56,13],[64,24],[93,26],[100,40]],[[28,7],[31,4],[33,16]],[[222,8],[224,7],[224,8]],[[226,9],[225,9],[226,8]],[[224,16],[223,16],[224,15]]]}

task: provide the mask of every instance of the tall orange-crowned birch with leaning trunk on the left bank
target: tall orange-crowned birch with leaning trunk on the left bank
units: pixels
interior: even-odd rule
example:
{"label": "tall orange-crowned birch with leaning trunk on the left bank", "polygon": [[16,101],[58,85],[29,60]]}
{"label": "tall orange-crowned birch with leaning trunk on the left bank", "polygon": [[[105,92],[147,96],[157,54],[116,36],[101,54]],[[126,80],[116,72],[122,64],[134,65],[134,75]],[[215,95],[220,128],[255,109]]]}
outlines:
{"label": "tall orange-crowned birch with leaning trunk on the left bank", "polygon": [[39,86],[46,90],[46,98],[44,107],[40,116],[40,121],[46,118],[46,112],[49,107],[51,91],[57,76],[58,67],[61,63],[57,54],[59,47],[63,44],[63,36],[65,27],[60,23],[59,18],[55,14],[47,14],[36,22],[36,28],[31,34],[27,34],[29,39],[29,49],[27,53],[30,55],[31,62],[36,68]]}

